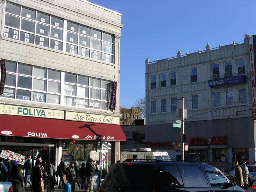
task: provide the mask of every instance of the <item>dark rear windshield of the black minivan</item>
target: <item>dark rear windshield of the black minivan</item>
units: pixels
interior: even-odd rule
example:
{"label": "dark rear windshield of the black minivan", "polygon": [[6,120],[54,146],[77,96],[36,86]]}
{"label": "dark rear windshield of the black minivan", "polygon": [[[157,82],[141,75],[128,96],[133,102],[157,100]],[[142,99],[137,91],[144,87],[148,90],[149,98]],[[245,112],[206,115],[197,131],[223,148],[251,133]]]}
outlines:
{"label": "dark rear windshield of the black minivan", "polygon": [[[121,163],[112,165],[103,185],[118,187],[120,190],[143,189],[150,191],[153,175],[151,165]],[[122,182],[120,182],[122,181]]]}

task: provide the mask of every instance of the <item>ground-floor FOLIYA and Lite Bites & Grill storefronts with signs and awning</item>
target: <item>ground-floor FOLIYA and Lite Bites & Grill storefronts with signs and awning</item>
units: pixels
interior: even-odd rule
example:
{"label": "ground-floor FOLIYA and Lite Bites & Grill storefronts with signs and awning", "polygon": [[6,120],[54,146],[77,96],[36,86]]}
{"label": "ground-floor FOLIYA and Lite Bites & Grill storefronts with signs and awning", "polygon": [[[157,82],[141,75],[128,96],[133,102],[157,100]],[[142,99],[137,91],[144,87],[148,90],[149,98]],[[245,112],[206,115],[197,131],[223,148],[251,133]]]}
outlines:
{"label": "ground-floor FOLIYA and Lite Bites & Grill storefronts with signs and awning", "polygon": [[1,157],[41,157],[55,166],[62,157],[65,164],[92,158],[101,178],[119,157],[117,141],[126,141],[118,116],[0,105],[0,121]]}

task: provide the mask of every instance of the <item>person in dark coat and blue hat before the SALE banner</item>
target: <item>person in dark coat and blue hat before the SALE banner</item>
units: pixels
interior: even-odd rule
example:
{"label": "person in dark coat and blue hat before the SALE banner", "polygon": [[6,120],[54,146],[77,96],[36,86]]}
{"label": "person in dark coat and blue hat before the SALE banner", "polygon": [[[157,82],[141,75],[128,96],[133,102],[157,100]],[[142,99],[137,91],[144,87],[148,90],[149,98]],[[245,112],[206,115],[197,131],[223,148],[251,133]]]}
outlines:
{"label": "person in dark coat and blue hat before the SALE banner", "polygon": [[10,171],[10,175],[12,177],[13,192],[24,192],[24,180],[18,164],[18,161],[13,161],[12,170]]}

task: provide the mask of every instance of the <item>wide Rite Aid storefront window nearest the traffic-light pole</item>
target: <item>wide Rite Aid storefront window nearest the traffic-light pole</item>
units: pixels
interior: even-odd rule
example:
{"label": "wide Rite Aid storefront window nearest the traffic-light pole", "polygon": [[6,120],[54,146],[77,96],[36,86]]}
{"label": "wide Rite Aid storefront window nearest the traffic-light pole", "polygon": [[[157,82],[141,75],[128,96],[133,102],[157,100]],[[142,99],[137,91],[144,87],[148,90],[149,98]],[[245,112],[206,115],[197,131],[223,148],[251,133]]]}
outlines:
{"label": "wide Rite Aid storefront window nearest the traffic-light pole", "polygon": [[208,149],[191,149],[185,152],[185,160],[193,162],[208,162]]}

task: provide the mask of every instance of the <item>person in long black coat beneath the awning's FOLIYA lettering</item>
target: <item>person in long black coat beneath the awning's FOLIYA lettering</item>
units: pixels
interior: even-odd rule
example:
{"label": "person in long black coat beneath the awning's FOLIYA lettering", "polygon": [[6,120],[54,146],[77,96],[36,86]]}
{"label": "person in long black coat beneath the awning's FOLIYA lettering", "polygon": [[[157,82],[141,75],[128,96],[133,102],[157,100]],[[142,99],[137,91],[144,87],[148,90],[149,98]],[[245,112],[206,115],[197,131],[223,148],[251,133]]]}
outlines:
{"label": "person in long black coat beneath the awning's FOLIYA lettering", "polygon": [[41,170],[41,165],[42,165],[42,159],[38,158],[36,160],[35,166],[33,168],[32,174],[31,174],[31,182],[32,182],[32,187],[31,190],[33,192],[41,192],[39,190],[39,187],[41,186],[42,182],[42,170]]}

